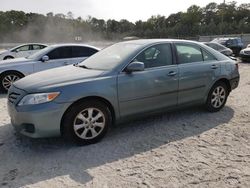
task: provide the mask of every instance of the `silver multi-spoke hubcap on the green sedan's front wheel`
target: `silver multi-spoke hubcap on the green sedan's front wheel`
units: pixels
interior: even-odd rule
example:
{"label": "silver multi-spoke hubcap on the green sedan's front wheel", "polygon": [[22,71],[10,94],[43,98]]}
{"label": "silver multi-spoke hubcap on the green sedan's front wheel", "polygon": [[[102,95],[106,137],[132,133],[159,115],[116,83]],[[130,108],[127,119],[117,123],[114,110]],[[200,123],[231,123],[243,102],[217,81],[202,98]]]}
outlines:
{"label": "silver multi-spoke hubcap on the green sedan's front wheel", "polygon": [[105,116],[99,109],[86,108],[74,120],[74,132],[82,139],[97,137],[105,126]]}

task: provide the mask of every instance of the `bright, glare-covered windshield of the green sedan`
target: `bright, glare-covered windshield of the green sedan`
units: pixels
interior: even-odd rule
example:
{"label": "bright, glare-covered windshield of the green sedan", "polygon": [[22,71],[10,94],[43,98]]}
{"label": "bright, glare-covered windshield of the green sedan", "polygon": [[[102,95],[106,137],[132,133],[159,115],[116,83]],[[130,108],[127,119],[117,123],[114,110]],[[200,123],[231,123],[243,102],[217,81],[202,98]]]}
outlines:
{"label": "bright, glare-covered windshield of the green sedan", "polygon": [[89,69],[112,70],[140,47],[139,44],[117,43],[99,51],[78,65]]}

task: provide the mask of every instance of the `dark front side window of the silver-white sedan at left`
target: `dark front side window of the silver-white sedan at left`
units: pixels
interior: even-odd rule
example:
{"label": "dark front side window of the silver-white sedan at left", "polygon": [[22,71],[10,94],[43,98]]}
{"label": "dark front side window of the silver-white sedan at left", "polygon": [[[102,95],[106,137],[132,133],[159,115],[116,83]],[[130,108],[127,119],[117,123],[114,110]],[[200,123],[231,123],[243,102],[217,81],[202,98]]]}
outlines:
{"label": "dark front side window of the silver-white sedan at left", "polygon": [[47,54],[49,59],[66,59],[72,57],[71,47],[59,47]]}

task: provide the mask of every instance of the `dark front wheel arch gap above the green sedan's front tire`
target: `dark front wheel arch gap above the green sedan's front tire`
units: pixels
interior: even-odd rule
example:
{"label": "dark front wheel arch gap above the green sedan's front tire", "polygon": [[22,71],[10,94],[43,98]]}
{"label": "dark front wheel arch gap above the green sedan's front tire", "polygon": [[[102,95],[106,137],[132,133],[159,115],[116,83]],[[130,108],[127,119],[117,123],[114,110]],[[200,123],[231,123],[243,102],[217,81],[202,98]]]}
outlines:
{"label": "dark front wheel arch gap above the green sedan's front tire", "polygon": [[104,103],[105,105],[107,105],[108,109],[110,110],[110,113],[111,113],[111,118],[112,118],[112,124],[115,123],[115,119],[116,119],[116,114],[115,114],[115,110],[114,110],[114,107],[113,105],[111,104],[111,102],[109,102],[107,99],[103,98],[103,97],[100,97],[100,96],[88,96],[88,97],[83,97],[81,99],[78,99],[77,101],[73,102],[68,108],[67,110],[63,113],[63,116],[61,118],[61,122],[60,122],[60,132],[62,134],[62,124],[63,124],[63,121],[64,121],[64,118],[65,118],[65,115],[69,112],[69,110],[71,108],[73,108],[76,104],[78,103],[82,103],[84,101],[88,101],[88,100],[95,100],[95,101],[98,101],[98,102],[102,102]]}

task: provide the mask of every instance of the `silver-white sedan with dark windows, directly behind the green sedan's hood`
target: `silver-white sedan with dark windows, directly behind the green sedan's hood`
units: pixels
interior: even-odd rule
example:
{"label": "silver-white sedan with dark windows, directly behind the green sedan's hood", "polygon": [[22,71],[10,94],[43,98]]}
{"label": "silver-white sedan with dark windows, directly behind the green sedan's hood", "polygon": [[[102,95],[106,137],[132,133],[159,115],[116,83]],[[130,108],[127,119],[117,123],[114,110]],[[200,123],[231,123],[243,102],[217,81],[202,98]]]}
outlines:
{"label": "silver-white sedan with dark windows, directly behind the green sedan's hood", "polygon": [[13,82],[26,75],[77,64],[98,51],[98,48],[88,45],[57,44],[46,47],[26,58],[0,61],[0,91],[6,92]]}

